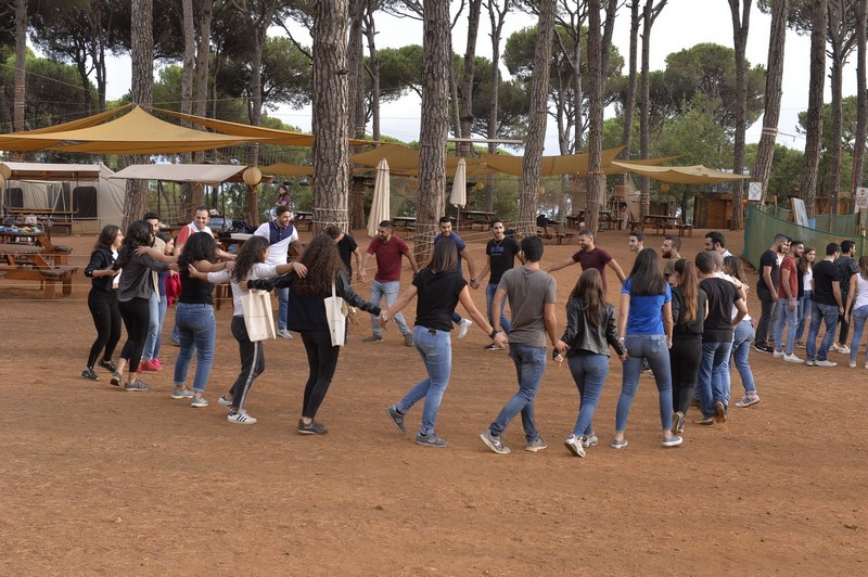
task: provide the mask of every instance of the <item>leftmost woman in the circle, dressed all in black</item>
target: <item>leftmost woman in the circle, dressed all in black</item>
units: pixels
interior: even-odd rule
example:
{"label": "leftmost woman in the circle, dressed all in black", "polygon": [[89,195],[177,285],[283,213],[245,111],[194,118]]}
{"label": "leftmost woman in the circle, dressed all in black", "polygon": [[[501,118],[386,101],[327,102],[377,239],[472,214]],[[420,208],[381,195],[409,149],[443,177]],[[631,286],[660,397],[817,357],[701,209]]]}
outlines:
{"label": "leftmost woman in the circle, dressed all in black", "polygon": [[100,352],[103,354],[100,367],[110,372],[117,370],[115,363],[112,362],[112,354],[115,351],[117,342],[120,341],[120,309],[117,308],[117,293],[112,286],[112,281],[117,274],[113,266],[122,242],[124,242],[124,233],[120,232],[120,227],[114,225],[103,227],[97,239],[97,245],[90,254],[90,262],[85,267],[85,277],[91,279],[88,308],[90,316],[93,317],[93,325],[97,328],[97,339],[90,347],[87,367],[81,371],[81,376],[90,381],[100,379],[93,371]]}

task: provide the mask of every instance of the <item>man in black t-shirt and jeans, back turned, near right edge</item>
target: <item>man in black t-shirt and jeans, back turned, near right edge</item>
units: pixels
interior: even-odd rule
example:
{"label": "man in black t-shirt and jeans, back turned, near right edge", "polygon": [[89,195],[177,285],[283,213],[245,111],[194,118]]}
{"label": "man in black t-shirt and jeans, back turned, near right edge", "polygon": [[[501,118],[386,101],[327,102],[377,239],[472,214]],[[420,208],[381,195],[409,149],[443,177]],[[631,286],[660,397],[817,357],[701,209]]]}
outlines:
{"label": "man in black t-shirt and jeans, back turned, near right edge", "polygon": [[[810,328],[807,331],[807,366],[837,367],[828,359],[829,348],[834,343],[838,319],[844,313],[841,300],[841,270],[834,261],[841,254],[837,243],[826,245],[826,256],[814,266],[814,295],[810,302]],[[826,324],[826,334],[817,348],[820,323]]]}

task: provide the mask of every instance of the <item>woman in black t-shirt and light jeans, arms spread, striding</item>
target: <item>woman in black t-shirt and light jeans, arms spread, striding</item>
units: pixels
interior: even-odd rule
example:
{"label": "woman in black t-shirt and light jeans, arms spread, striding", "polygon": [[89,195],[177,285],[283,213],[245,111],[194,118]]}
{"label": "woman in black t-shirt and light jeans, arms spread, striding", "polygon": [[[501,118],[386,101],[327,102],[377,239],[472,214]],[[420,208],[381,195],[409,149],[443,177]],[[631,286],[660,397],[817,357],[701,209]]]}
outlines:
{"label": "woman in black t-shirt and light jeans, arms spread, striding", "polygon": [[413,343],[425,363],[427,377],[417,383],[397,405],[386,407],[386,413],[398,431],[404,433],[407,431],[404,425],[407,411],[425,399],[422,425],[416,436],[416,443],[425,447],[446,447],[448,444],[437,435],[434,422],[452,371],[452,345],[449,333],[452,330],[452,313],[459,300],[470,317],[476,321],[477,326],[492,338],[497,336],[498,345],[505,345],[506,338],[503,333],[494,334],[488,319],[473,304],[467,281],[458,274],[458,249],[455,243],[444,242],[434,245],[431,262],[419,271],[413,278],[412,285],[380,317],[381,325],[384,326],[417,295],[419,300],[416,305]]}

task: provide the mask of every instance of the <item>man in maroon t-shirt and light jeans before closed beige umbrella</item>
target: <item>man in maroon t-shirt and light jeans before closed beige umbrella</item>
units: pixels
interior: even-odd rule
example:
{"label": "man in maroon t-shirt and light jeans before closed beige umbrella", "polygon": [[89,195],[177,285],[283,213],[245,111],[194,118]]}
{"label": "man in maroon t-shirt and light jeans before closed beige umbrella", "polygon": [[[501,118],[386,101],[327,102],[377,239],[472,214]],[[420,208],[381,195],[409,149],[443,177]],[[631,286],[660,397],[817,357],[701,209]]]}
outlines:
{"label": "man in maroon t-shirt and light jeans before closed beige umbrella", "polygon": [[[398,299],[398,292],[400,291],[403,258],[407,257],[407,260],[410,261],[413,274],[419,272],[419,266],[413,260],[407,243],[403,239],[392,235],[392,222],[388,220],[383,220],[378,225],[376,238],[368,245],[368,251],[365,253],[358,273],[358,279],[361,282],[368,280],[368,260],[370,260],[371,255],[376,257],[376,274],[374,274],[373,282],[371,282],[371,303],[379,306],[380,302],[385,297],[386,307],[391,307]],[[407,321],[404,320],[404,315],[396,312],[393,318],[404,335],[404,345],[413,346],[413,335],[407,326]],[[371,315],[373,334],[365,337],[363,341],[366,343],[383,339],[383,329],[376,321],[378,317]]]}

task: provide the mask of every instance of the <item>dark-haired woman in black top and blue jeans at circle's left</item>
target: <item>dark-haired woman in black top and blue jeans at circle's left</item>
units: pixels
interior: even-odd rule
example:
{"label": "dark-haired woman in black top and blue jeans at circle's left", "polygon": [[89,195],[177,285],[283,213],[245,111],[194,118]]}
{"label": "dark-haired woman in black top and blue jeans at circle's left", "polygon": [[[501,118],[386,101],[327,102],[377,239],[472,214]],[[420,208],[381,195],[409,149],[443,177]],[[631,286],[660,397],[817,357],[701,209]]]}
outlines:
{"label": "dark-haired woman in black top and blue jeans at circle's left", "polygon": [[[175,310],[180,350],[175,362],[175,389],[173,399],[190,399],[191,407],[207,407],[203,396],[208,385],[214,362],[214,339],[217,328],[214,320],[214,285],[207,280],[190,275],[190,267],[200,272],[226,270],[227,262],[217,262],[217,243],[209,232],[191,234],[178,258],[181,274],[181,295]],[[187,388],[187,372],[196,354],[196,374],[193,390]]]}

